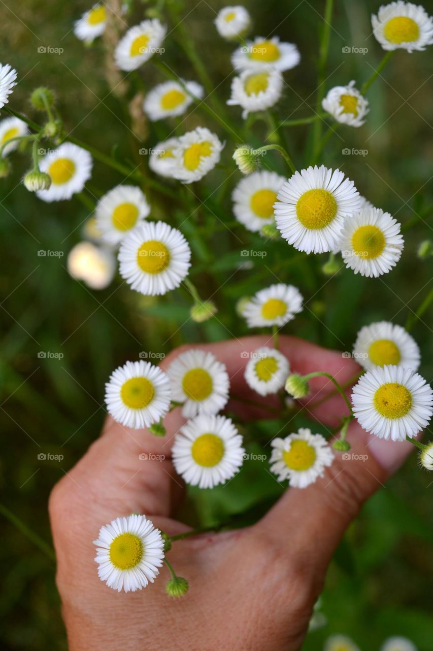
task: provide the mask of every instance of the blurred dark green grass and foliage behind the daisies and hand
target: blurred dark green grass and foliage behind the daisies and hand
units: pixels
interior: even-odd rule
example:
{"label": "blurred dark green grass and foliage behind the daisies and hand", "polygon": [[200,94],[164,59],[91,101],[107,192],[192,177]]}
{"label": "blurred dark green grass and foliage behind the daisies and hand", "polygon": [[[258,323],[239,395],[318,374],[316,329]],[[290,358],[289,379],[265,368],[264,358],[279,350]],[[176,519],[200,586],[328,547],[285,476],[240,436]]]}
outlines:
{"label": "blurred dark green grass and foliage behind the daisies and hand", "polygon": [[[306,258],[284,242],[265,243],[235,223],[230,193],[240,174],[231,152],[245,139],[239,107],[228,109],[237,136],[228,141],[218,169],[189,189],[163,181],[172,188],[173,199],[149,182],[155,177],[148,173],[148,157],[140,156],[140,147],[154,146],[173,131],[181,133],[198,125],[209,126],[221,139],[227,136],[199,109],[190,111],[181,126],[181,120],[148,125],[139,112],[138,121],[136,118],[136,124],[131,124],[130,114],[118,98],[120,90],[131,100],[136,92],[164,79],[155,64],[148,62],[138,75],[129,77],[126,87],[121,84],[111,92],[110,84],[117,82],[107,69],[103,42],[86,48],[72,33],[73,21],[91,4],[81,0],[2,3],[0,60],[17,68],[19,81],[9,106],[41,120],[29,104],[29,94],[35,87],[47,85],[55,89],[68,133],[119,161],[133,167],[139,164],[153,217],[182,224],[194,256],[192,279],[203,298],[212,296],[219,312],[217,319],[198,325],[188,320],[190,296],[182,289],[163,298],[150,298],[138,296],[118,278],[100,292],[73,281],[66,271],[66,255],[82,238],[90,211],[77,199],[46,204],[25,191],[20,178],[29,161],[18,153],[12,155],[14,171],[1,180],[0,206],[0,485],[4,505],[0,514],[0,644],[4,649],[66,648],[55,566],[49,553],[23,535],[23,525],[18,523],[17,528],[4,517],[5,508],[42,540],[51,542],[47,497],[53,484],[99,435],[105,417],[104,382],[116,366],[137,359],[140,351],[168,352],[183,342],[246,334],[243,320],[235,313],[235,301],[278,281],[295,284],[306,299],[306,309],[285,331],[339,350],[351,350],[356,332],[364,324],[386,319],[405,325],[432,289],[431,264],[416,255],[419,243],[432,234],[428,217],[423,216],[433,201],[431,50],[412,55],[398,51],[385,68],[384,79],[378,79],[369,90],[367,124],[360,129],[341,128],[321,157],[322,163],[343,169],[362,195],[409,229],[402,259],[394,271],[375,281],[350,270],[330,278],[321,273],[326,256]],[[166,17],[170,35],[164,42],[164,61],[184,79],[196,79],[181,47],[187,35],[192,37],[220,100],[225,102],[230,94],[233,46],[218,37],[213,25],[215,12],[224,3],[185,0],[183,5],[166,4],[184,17],[181,26],[185,29],[181,31],[175,27],[176,21]],[[244,4],[254,18],[253,35],[279,35],[295,42],[302,54],[301,64],[285,73],[287,87],[278,115],[282,119],[311,115],[324,2],[254,0]],[[335,5],[326,90],[350,79],[356,79],[360,87],[383,53],[370,26],[370,14],[377,10],[378,0],[337,0]],[[136,0],[127,18],[129,25],[142,20],[149,9],[165,11],[164,2]],[[41,53],[41,46],[64,51],[60,55]],[[343,53],[347,46],[368,48],[368,52]],[[4,111],[3,117],[7,117]],[[140,138],[132,133],[133,128],[141,131]],[[250,143],[263,144],[267,131],[266,124],[257,122],[254,137],[248,135]],[[283,131],[295,164],[301,167],[311,149],[311,128]],[[343,155],[346,147],[368,150],[368,154]],[[266,166],[286,174],[278,155],[269,154]],[[123,180],[122,174],[96,162],[85,201],[93,201]],[[189,212],[185,212],[183,201],[189,202]],[[41,249],[64,255],[40,257]],[[267,255],[245,258],[243,249]],[[433,376],[431,318],[430,308],[412,331],[421,346],[421,373],[427,381]],[[41,351],[64,356],[40,359]],[[272,427],[272,421],[259,423],[257,431],[272,432]],[[252,450],[261,449],[251,444],[248,451]],[[63,454],[64,460],[41,461],[40,452]],[[309,634],[306,651],[322,648],[331,633],[350,635],[364,651],[378,649],[384,637],[397,633],[413,639],[421,651],[431,651],[431,581],[427,579],[433,570],[431,481],[417,469],[413,455],[363,508],[330,567],[321,600],[322,623],[326,623]],[[256,518],[278,492],[280,487],[263,472],[260,462],[248,462],[227,488],[211,493],[192,491],[189,517],[193,508],[194,518],[203,523],[247,511],[247,521]]]}

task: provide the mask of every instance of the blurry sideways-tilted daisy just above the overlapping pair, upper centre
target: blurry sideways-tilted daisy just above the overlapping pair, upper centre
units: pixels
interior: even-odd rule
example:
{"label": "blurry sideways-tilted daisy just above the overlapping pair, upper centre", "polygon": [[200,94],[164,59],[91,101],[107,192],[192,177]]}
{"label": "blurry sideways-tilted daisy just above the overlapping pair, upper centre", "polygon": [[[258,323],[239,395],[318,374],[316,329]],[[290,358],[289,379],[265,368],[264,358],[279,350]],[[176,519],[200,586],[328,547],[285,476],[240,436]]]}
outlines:
{"label": "blurry sideways-tilted daisy just above the overlapping pair, upper centre", "polygon": [[202,99],[203,86],[195,81],[185,81],[184,83],[187,90],[177,81],[165,81],[148,92],[143,109],[152,122],[183,115],[194,101],[192,96],[198,100]]}

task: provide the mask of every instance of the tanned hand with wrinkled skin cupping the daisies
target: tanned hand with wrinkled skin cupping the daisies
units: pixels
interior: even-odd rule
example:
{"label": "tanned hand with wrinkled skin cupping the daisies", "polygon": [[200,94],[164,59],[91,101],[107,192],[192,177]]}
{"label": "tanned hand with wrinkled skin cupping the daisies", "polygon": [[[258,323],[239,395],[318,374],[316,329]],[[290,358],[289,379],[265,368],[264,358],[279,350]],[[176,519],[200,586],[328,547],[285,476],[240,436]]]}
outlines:
{"label": "tanned hand with wrinkled skin cupping the daisies", "polygon": [[[267,337],[246,337],[200,344],[228,368],[231,394],[261,398],[246,386],[242,351],[271,345]],[[183,346],[161,364],[196,346]],[[294,372],[325,370],[345,383],[360,370],[341,353],[293,337],[280,337],[280,350]],[[311,419],[335,428],[347,407],[332,396],[312,413],[309,404],[334,387],[326,378],[311,380],[303,402]],[[269,396],[268,396],[269,397]],[[278,402],[275,403],[278,406]],[[269,412],[231,400],[239,417],[254,419]],[[188,531],[172,519],[182,497],[181,480],[170,462],[172,438],[184,420],[180,409],[166,417],[163,439],[146,430],[129,430],[107,419],[101,437],[55,486],[49,513],[57,553],[57,585],[71,651],[294,651],[299,649],[311,609],[321,591],[328,562],[361,504],[380,488],[403,462],[412,446],[368,435],[356,423],[349,429],[350,452],[366,461],[342,460],[326,469],[324,478],[305,490],[286,490],[256,525],[237,531],[200,534],[174,543],[168,554],[190,590],[169,598],[170,578],[161,569],[153,585],[118,594],[99,580],[94,562],[99,527],[118,516],[144,513],[169,534]],[[314,426],[312,423],[312,430]],[[275,436],[287,436],[290,422]],[[164,454],[163,462],[143,462],[141,452]],[[269,450],[270,452],[270,450]]]}

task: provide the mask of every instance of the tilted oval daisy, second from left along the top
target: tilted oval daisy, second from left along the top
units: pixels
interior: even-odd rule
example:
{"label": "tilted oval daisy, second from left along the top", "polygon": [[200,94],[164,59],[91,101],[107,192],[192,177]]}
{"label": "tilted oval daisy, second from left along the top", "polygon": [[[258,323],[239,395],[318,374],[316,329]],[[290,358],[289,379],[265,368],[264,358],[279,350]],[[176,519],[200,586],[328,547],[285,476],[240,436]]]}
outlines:
{"label": "tilted oval daisy, second from left along the top", "polygon": [[167,27],[157,18],[143,20],[140,25],[128,29],[114,51],[114,60],[120,70],[136,70],[155,52],[161,52],[161,44]]}

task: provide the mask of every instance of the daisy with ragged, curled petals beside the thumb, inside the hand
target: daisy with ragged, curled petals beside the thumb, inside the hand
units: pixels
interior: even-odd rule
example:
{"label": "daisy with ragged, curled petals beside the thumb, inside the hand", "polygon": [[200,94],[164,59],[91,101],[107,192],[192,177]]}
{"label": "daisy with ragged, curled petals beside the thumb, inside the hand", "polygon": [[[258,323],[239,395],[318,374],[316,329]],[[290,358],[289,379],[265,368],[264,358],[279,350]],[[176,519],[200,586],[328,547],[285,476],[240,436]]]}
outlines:
{"label": "daisy with ragged, curled petals beside the thumb, inside the hand", "polygon": [[326,439],[321,434],[311,434],[308,428],[300,428],[285,439],[274,439],[270,445],[270,471],[279,482],[288,479],[294,488],[313,484],[334,461],[334,452]]}

